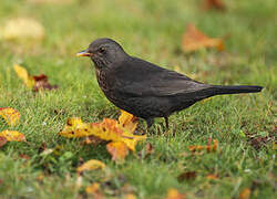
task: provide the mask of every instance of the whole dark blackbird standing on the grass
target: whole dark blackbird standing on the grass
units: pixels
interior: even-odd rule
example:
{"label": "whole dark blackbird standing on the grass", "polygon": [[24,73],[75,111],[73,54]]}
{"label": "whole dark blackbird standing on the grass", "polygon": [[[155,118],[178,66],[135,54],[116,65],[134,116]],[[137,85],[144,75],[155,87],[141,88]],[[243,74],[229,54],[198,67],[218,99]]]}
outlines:
{"label": "whole dark blackbird standing on the grass", "polygon": [[146,121],[151,127],[155,117],[168,116],[194,103],[223,94],[256,93],[261,86],[211,85],[153,63],[130,56],[111,39],[98,39],[76,54],[90,56],[95,65],[99,85],[115,106]]}

